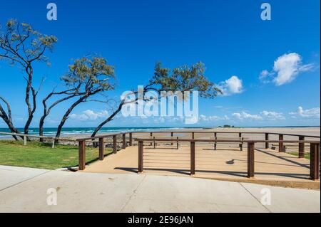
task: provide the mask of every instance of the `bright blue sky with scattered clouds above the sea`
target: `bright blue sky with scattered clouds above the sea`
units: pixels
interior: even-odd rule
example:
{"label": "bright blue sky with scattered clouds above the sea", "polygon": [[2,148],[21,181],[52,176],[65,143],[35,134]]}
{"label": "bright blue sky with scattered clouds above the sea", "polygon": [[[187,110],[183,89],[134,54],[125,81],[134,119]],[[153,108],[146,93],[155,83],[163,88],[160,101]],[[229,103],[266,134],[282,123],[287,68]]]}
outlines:
{"label": "bright blue sky with scattered clouds above the sea", "polygon": [[[46,19],[56,3],[58,20]],[[272,20],[260,19],[263,2]],[[59,83],[71,59],[97,53],[116,65],[118,86],[108,93],[144,85],[156,61],[166,67],[202,61],[210,80],[227,95],[199,100],[197,125],[320,125],[320,1],[4,1],[0,23],[18,19],[58,38],[51,67],[35,65],[34,82],[46,80],[41,100]],[[11,103],[14,123],[24,125],[23,72],[0,61],[0,95]],[[58,125],[70,102],[58,106],[46,127]],[[95,127],[106,116],[102,103],[76,107],[66,127]],[[185,126],[175,118],[124,118],[106,125]],[[0,127],[5,127],[0,120]]]}

